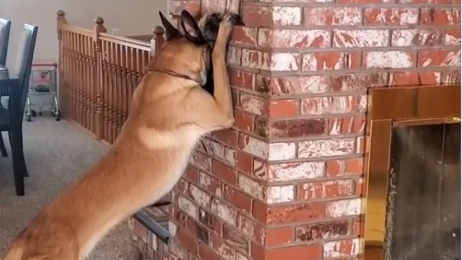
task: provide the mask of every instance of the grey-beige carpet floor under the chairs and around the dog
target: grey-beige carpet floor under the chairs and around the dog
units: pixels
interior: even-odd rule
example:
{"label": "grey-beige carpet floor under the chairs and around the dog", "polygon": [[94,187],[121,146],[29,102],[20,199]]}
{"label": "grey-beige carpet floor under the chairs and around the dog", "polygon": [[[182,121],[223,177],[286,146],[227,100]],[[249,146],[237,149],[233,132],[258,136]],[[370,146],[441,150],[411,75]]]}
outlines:
{"label": "grey-beige carpet floor under the chairs and around the dog", "polygon": [[[7,134],[3,133],[9,157],[0,157],[0,259],[6,247],[56,193],[67,186],[99,157],[107,146],[92,139],[67,121],[49,116],[24,122],[24,155],[30,177],[26,195],[14,191],[12,162]],[[131,235],[122,223],[97,245],[90,260],[131,259]]]}

